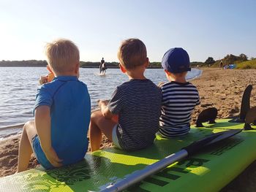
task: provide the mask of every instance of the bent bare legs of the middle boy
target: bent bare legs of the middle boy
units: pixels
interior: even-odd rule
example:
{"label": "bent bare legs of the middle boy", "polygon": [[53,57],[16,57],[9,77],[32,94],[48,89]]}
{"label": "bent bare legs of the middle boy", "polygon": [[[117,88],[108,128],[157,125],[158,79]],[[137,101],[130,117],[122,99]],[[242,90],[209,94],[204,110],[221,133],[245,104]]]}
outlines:
{"label": "bent bare legs of the middle boy", "polygon": [[113,122],[113,120],[104,118],[100,111],[91,114],[89,131],[91,152],[99,150],[102,142],[102,133],[105,134],[105,136],[112,142],[112,131],[115,125],[116,123]]}

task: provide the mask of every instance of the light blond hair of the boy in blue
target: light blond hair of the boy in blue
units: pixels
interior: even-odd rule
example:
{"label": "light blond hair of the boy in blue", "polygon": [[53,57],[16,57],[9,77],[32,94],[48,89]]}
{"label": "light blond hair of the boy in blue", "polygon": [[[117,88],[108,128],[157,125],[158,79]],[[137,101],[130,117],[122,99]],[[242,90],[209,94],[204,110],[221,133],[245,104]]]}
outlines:
{"label": "light blond hair of the boy in blue", "polygon": [[68,39],[57,39],[45,46],[48,64],[55,72],[70,72],[79,63],[78,47]]}

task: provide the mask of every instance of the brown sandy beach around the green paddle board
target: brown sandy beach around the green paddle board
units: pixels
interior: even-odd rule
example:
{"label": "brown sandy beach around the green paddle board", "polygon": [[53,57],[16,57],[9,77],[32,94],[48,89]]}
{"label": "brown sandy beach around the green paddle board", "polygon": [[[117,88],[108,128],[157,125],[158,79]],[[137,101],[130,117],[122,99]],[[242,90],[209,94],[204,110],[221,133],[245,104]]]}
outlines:
{"label": "brown sandy beach around the green paddle board", "polygon": [[[235,69],[203,69],[201,77],[192,80],[200,93],[201,104],[192,115],[195,123],[197,115],[208,107],[218,109],[218,118],[233,117],[239,114],[241,97],[246,85],[252,84],[251,107],[256,106],[256,70]],[[20,134],[0,141],[0,177],[14,174],[18,163],[18,142]],[[108,139],[103,138],[102,148],[111,146]],[[38,166],[34,155],[30,168]],[[240,176],[227,185],[222,191],[256,191],[256,162]]]}

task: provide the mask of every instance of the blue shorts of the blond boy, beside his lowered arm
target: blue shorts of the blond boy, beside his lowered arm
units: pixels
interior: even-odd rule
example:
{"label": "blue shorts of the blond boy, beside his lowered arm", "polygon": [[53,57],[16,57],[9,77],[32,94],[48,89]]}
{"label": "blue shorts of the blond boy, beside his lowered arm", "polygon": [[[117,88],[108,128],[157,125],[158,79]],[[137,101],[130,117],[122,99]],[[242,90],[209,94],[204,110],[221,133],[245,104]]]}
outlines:
{"label": "blue shorts of the blond boy, beside his lowered arm", "polygon": [[53,169],[54,166],[52,166],[52,164],[50,164],[50,162],[48,161],[48,159],[45,156],[45,153],[42,151],[42,147],[40,145],[39,138],[38,138],[37,134],[32,139],[32,147],[33,147],[34,154],[36,155],[37,161],[39,162],[39,164],[41,164],[45,169]]}

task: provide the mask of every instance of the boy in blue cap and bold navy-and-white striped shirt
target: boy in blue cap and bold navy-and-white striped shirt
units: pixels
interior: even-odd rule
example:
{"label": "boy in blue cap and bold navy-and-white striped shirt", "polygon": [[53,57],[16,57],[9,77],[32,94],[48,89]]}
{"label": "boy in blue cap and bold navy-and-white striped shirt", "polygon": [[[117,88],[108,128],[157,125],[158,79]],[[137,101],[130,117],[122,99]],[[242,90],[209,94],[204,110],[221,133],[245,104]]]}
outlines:
{"label": "boy in blue cap and bold navy-and-white striped shirt", "polygon": [[189,55],[182,48],[167,50],[162,58],[162,67],[169,81],[162,85],[162,114],[159,120],[162,137],[187,134],[192,111],[200,104],[197,88],[186,80],[186,74],[191,70],[189,66]]}

